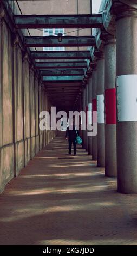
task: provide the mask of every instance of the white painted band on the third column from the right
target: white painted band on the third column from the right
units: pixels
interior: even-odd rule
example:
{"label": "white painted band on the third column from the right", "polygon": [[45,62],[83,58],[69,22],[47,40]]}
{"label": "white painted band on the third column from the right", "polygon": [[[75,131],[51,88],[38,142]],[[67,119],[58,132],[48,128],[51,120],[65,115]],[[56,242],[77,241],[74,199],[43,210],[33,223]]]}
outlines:
{"label": "white painted band on the third column from the right", "polygon": [[97,123],[104,124],[104,95],[97,95]]}

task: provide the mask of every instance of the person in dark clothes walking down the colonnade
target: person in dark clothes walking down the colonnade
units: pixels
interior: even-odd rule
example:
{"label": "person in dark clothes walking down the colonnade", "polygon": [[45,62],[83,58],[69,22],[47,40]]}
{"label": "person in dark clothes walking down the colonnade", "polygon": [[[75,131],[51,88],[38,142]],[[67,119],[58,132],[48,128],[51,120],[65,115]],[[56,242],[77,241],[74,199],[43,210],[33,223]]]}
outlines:
{"label": "person in dark clothes walking down the colonnade", "polygon": [[79,133],[76,131],[75,127],[75,117],[71,121],[70,125],[67,127],[65,138],[68,139],[69,143],[69,155],[71,155],[72,143],[74,149],[74,156],[76,155],[76,137]]}

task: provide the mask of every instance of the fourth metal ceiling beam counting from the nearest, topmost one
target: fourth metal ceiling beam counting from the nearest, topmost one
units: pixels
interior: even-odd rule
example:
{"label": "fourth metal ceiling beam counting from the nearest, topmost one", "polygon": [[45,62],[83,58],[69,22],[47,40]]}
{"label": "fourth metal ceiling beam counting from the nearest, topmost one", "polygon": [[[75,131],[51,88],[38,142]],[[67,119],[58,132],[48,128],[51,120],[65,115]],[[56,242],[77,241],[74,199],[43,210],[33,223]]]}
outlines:
{"label": "fourth metal ceiling beam counting from the nearest, topmost one", "polygon": [[36,68],[39,69],[76,69],[87,68],[87,62],[35,62]]}

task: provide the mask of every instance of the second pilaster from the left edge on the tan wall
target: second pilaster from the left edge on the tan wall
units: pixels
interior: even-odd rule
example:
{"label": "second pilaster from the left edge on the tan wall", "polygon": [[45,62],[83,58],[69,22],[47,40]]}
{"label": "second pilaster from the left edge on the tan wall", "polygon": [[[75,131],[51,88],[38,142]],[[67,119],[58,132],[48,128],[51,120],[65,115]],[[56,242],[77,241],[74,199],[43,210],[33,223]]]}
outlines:
{"label": "second pilaster from the left edge on the tan wall", "polygon": [[17,176],[19,170],[24,167],[22,69],[22,50],[14,40],[12,42],[12,107],[15,176]]}

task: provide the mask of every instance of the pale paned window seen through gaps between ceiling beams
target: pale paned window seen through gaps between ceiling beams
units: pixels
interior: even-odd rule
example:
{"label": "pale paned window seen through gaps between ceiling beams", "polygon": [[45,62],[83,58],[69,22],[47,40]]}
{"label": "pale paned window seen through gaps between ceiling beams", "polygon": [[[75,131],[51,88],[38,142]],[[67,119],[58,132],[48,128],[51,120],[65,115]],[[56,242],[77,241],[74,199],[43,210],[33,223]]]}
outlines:
{"label": "pale paned window seen through gaps between ceiling beams", "polygon": [[[64,34],[64,28],[45,28],[43,29],[43,36],[57,35],[58,33]],[[65,47],[43,47],[43,51],[64,51]]]}

